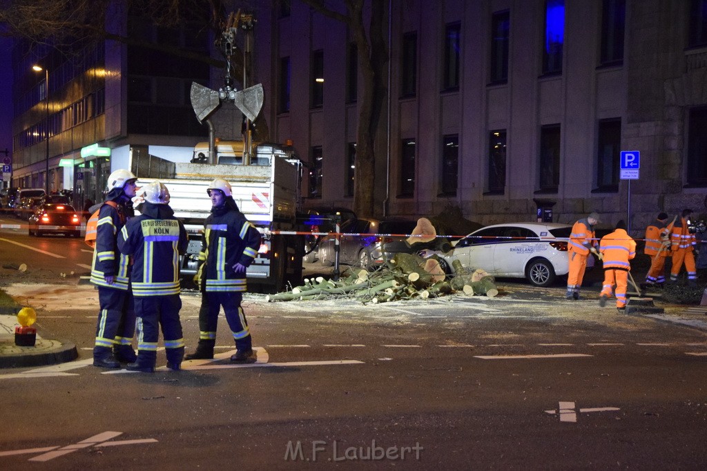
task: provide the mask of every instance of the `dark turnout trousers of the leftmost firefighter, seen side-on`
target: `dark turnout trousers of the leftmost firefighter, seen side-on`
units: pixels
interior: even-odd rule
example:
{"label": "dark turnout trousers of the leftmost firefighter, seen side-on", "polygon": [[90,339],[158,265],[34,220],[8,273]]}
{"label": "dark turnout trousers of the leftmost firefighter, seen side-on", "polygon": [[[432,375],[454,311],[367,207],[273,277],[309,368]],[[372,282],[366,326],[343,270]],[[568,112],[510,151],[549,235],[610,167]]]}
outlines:
{"label": "dark turnout trousers of the leftmost firefighter, seen side-on", "polygon": [[[112,348],[131,345],[135,333],[135,309],[132,290],[114,290],[98,287],[98,326],[95,329],[95,347]],[[95,351],[95,349],[94,349]]]}

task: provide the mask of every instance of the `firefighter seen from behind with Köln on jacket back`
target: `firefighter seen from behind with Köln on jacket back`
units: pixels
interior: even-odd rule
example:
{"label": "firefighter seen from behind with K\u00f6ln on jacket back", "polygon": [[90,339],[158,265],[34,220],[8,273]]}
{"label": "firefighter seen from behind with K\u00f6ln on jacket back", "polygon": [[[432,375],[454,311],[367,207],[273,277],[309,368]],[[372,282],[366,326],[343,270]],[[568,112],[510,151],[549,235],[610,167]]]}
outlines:
{"label": "firefighter seen from behind with K\u00f6ln on jacket back", "polygon": [[144,187],[141,215],[133,217],[118,236],[118,248],[132,255],[132,289],[137,315],[138,354],[130,371],[155,371],[160,326],[167,367],[181,369],[184,338],[179,256],[187,251],[187,231],[169,206],[170,192],[159,181]]}

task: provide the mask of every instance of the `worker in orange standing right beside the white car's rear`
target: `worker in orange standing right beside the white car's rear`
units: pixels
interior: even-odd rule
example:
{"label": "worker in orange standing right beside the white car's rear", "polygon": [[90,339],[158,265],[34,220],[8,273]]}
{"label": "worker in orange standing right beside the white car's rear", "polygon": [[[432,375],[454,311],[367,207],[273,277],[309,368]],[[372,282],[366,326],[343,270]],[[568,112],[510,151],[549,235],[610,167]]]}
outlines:
{"label": "worker in orange standing right beside the white car's rear", "polygon": [[569,273],[567,275],[566,299],[580,299],[579,291],[582,287],[584,272],[587,269],[589,253],[597,254],[597,240],[594,226],[601,222],[597,213],[590,213],[585,219],[580,219],[572,226],[567,256],[569,258]]}

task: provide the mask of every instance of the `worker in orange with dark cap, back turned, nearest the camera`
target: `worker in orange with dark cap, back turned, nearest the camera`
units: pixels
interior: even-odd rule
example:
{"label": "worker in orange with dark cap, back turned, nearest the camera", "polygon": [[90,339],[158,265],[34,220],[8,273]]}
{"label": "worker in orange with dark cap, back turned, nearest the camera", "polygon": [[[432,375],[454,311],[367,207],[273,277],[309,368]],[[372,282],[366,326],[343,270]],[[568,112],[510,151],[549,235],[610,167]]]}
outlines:
{"label": "worker in orange with dark cap, back turned, nearest the camera", "polygon": [[599,251],[604,261],[604,285],[599,305],[604,307],[616,285],[617,309],[626,310],[626,287],[629,285],[631,260],[636,256],[636,242],[626,232],[626,222],[620,220],[614,232],[602,237]]}

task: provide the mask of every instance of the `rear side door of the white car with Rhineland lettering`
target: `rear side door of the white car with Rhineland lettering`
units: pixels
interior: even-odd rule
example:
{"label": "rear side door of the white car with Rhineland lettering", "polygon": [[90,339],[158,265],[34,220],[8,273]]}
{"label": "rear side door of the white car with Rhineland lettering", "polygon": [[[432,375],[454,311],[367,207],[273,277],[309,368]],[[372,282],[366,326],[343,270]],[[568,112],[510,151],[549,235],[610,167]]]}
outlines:
{"label": "rear side door of the white car with Rhineland lettering", "polygon": [[524,276],[525,261],[537,251],[537,234],[525,227],[506,226],[499,234],[498,244],[494,247],[494,273],[499,276]]}

